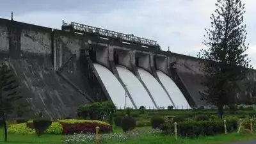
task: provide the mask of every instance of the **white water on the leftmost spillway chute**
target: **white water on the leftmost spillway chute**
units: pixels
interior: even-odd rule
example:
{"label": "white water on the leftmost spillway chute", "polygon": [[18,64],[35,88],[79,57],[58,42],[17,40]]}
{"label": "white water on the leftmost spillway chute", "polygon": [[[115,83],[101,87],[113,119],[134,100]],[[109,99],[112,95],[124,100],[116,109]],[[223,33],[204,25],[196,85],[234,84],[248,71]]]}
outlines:
{"label": "white water on the leftmost spillway chute", "polygon": [[[93,63],[93,66],[97,70],[102,83],[109,93],[109,97],[111,97],[113,103],[118,108],[124,108],[125,105],[125,90],[122,84],[119,83],[118,79],[112,74],[112,72],[97,63]],[[132,108],[132,102],[129,97],[126,98],[126,107]]]}

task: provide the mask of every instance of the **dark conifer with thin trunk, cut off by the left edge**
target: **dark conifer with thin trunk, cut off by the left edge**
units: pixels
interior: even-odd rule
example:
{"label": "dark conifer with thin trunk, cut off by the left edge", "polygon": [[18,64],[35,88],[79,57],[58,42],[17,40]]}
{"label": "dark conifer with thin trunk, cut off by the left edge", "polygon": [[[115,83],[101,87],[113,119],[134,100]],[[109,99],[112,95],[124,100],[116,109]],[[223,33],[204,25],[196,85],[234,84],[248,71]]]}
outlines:
{"label": "dark conifer with thin trunk, cut off by the left edge", "polygon": [[0,115],[3,118],[4,141],[7,141],[6,113],[13,110],[13,102],[21,99],[19,85],[6,62],[0,63]]}

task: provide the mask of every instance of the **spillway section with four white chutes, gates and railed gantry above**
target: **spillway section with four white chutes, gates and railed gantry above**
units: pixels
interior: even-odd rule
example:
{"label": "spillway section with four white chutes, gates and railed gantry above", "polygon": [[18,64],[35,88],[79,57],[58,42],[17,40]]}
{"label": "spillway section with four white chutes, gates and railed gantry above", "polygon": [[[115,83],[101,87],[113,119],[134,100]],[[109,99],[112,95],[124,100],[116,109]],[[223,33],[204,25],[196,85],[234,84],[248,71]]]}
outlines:
{"label": "spillway section with four white chutes, gates and railed gantry above", "polygon": [[[182,84],[176,86],[170,78],[173,70],[168,61],[163,61],[164,71],[157,69],[154,54],[163,51],[156,41],[76,22],[68,24],[63,21],[62,30],[90,39],[85,48],[90,65],[94,67],[93,72],[106,99],[112,100],[118,108],[166,109],[173,106],[187,109],[189,103],[193,104],[190,95],[187,93],[184,97],[180,91]],[[168,56],[164,57],[168,60]]]}

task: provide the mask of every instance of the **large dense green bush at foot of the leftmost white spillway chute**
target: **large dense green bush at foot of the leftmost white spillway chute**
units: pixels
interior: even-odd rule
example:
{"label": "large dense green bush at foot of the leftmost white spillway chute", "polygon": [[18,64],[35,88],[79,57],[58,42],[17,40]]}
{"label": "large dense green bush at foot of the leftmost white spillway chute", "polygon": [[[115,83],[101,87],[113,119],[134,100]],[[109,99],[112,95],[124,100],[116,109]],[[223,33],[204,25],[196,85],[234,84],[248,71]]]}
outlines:
{"label": "large dense green bush at foot of the leftmost white spillway chute", "polygon": [[108,118],[109,122],[112,122],[115,111],[115,105],[109,101],[85,104],[77,108],[78,116],[84,119],[103,120],[104,118]]}

